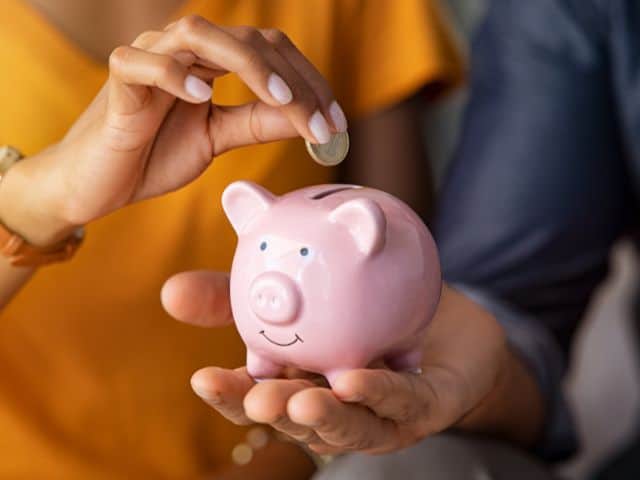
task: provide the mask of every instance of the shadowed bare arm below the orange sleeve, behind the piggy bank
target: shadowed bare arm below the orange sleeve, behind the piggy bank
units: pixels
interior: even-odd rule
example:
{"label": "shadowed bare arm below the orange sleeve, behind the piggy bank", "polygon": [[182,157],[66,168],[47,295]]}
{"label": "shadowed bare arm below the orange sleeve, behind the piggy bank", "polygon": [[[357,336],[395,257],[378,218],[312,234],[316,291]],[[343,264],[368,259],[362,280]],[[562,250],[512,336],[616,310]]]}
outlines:
{"label": "shadowed bare arm below the orange sleeve, behind the piggy bank", "polygon": [[389,192],[428,218],[433,182],[422,142],[424,106],[419,94],[354,122],[342,173],[346,182]]}

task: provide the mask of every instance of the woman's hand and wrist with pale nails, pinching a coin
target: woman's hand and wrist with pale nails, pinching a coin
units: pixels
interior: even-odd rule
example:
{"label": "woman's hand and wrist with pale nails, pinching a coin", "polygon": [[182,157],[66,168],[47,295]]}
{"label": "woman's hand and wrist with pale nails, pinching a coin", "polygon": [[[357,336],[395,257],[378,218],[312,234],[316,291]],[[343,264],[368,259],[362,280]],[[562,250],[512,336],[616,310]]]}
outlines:
{"label": "woman's hand and wrist with pale nails, pinching a coin", "polygon": [[[212,82],[229,72],[256,102],[211,104]],[[283,33],[185,17],[113,51],[108,81],[65,138],[7,174],[0,200],[13,205],[0,219],[44,243],[186,185],[232,148],[297,135],[324,143],[345,129],[327,82]]]}

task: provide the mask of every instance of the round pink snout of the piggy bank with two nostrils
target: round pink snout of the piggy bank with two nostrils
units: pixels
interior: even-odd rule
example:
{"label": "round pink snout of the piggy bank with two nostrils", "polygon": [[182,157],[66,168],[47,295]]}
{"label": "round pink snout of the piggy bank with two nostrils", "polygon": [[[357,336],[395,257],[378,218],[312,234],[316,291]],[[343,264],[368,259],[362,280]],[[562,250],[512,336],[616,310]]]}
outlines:
{"label": "round pink snout of the piggy bank with two nostrils", "polygon": [[251,284],[249,303],[253,313],[267,323],[291,323],[298,315],[300,293],[288,276],[266,272]]}

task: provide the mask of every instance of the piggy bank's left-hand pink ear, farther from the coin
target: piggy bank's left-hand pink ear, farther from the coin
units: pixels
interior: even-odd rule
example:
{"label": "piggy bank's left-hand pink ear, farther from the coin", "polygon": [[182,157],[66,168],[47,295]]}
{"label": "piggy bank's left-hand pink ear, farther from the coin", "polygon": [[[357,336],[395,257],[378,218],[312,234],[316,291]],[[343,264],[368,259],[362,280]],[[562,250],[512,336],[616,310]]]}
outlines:
{"label": "piggy bank's left-hand pink ear, farther from the coin", "polygon": [[222,193],[222,208],[236,233],[244,231],[249,221],[266,212],[275,196],[252,182],[234,182]]}

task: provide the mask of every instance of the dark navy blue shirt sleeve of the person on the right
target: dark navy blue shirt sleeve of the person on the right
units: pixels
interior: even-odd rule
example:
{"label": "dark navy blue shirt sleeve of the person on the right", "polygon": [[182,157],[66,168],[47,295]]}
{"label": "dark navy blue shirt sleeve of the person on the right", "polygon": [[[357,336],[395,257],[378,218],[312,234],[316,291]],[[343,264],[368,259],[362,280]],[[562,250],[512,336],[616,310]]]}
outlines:
{"label": "dark navy blue shirt sleeve of the person on the right", "polygon": [[544,394],[537,447],[549,459],[576,446],[566,353],[631,206],[587,3],[492,2],[435,228],[445,278],[494,314]]}

